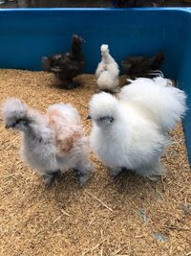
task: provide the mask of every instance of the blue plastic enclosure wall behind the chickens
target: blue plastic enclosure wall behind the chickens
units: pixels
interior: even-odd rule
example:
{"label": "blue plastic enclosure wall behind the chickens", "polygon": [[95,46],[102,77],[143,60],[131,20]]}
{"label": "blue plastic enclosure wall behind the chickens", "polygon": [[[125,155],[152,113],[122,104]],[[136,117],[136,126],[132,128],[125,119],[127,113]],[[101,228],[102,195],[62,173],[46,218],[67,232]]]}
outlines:
{"label": "blue plastic enclosure wall behind the chickens", "polygon": [[[0,68],[41,70],[41,58],[69,50],[84,37],[86,72],[94,73],[100,45],[117,62],[133,55],[166,55],[163,72],[179,82],[191,108],[191,9],[28,9],[0,11]],[[184,119],[191,162],[191,111]]]}

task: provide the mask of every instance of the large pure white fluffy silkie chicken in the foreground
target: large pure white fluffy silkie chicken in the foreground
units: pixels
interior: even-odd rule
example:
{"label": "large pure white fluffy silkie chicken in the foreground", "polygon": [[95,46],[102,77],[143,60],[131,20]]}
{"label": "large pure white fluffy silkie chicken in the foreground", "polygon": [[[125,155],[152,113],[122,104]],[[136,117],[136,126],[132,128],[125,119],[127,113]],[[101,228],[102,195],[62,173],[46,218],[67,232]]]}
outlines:
{"label": "large pure white fluffy silkie chicken in the foreground", "polygon": [[159,77],[132,81],[117,97],[101,92],[90,102],[93,151],[113,175],[125,168],[155,179],[163,173],[168,131],[185,114],[186,95]]}

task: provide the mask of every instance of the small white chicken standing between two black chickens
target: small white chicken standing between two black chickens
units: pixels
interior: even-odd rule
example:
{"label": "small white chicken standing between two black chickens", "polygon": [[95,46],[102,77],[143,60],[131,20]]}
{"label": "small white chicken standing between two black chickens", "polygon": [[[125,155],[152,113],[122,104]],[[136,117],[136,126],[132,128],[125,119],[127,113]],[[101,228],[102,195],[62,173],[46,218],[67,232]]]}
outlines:
{"label": "small white chicken standing between two black chickens", "polygon": [[110,55],[107,44],[101,45],[101,62],[96,68],[97,85],[101,91],[116,92],[118,86],[118,65]]}

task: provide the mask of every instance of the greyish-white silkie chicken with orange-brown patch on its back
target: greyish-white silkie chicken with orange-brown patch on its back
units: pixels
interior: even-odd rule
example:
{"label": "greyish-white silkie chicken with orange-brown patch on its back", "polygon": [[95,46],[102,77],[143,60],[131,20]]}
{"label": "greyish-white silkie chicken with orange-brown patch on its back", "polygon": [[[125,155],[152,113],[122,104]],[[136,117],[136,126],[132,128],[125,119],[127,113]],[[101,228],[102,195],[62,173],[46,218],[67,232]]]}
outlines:
{"label": "greyish-white silkie chicken with orange-brown patch on its back", "polygon": [[48,186],[59,175],[76,169],[80,184],[91,177],[89,138],[84,135],[80,116],[73,105],[49,106],[42,114],[16,98],[3,105],[6,128],[22,131],[21,156],[45,178]]}

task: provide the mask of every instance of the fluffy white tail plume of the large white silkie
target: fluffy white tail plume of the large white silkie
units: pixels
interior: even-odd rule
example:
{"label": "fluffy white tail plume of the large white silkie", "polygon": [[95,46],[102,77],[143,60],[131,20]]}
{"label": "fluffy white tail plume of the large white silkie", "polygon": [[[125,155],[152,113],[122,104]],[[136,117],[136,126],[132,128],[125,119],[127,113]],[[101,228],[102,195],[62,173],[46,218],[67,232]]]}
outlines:
{"label": "fluffy white tail plume of the large white silkie", "polygon": [[118,97],[139,109],[144,109],[144,113],[152,116],[164,131],[175,128],[186,110],[185,93],[172,86],[172,81],[162,77],[131,81],[121,89]]}

